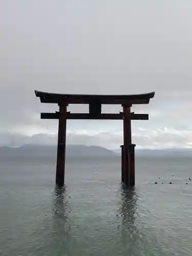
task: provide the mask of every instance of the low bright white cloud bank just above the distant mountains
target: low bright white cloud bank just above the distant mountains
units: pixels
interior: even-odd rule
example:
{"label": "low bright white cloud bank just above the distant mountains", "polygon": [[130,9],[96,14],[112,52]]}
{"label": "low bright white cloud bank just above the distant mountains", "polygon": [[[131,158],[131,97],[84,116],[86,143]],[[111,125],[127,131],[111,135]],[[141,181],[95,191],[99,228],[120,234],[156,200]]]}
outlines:
{"label": "low bright white cloud bank just above the distant mountains", "polygon": [[[18,146],[23,144],[56,145],[57,134],[35,134],[25,136],[19,134],[1,134],[0,145]],[[134,129],[132,142],[137,148],[191,148],[192,131],[175,129],[145,130]],[[117,150],[123,144],[123,133],[120,132],[88,132],[86,130],[68,131],[67,144],[97,145],[110,150]]]}

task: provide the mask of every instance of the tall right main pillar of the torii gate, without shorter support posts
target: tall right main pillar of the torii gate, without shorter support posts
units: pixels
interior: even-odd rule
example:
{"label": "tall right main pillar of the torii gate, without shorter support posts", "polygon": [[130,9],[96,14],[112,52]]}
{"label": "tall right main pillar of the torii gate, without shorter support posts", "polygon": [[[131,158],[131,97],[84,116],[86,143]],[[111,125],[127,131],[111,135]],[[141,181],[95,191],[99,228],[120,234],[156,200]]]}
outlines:
{"label": "tall right main pillar of the torii gate, without shorter support posts", "polygon": [[123,148],[124,148],[124,182],[130,186],[129,145],[132,144],[131,135],[131,104],[123,105]]}

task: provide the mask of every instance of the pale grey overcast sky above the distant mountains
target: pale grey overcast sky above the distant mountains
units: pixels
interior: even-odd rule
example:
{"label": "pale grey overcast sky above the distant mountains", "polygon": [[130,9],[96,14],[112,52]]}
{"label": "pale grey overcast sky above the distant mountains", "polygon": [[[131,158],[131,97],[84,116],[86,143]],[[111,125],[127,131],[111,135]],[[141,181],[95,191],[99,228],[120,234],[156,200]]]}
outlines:
{"label": "pale grey overcast sky above the distant mountains", "polygon": [[[191,0],[1,0],[0,144],[57,142],[58,122],[40,120],[40,112],[58,106],[40,103],[34,90],[155,91],[150,104],[133,107],[150,114],[132,121],[133,143],[192,146],[191,10]],[[67,141],[116,148],[122,121],[68,121]]]}

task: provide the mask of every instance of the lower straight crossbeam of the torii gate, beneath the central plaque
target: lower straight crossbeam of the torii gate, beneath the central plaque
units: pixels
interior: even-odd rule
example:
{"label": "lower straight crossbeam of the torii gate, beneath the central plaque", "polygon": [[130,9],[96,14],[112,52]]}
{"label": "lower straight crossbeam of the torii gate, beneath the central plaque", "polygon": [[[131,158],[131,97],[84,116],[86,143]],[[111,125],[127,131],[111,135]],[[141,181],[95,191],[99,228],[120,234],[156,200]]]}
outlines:
{"label": "lower straight crossbeam of the torii gate, beneath the central plaque", "polygon": [[[41,119],[59,119],[59,112],[56,113],[41,113]],[[92,116],[89,113],[67,113],[67,119],[75,120],[122,120],[123,115],[120,112],[119,114],[100,114],[98,116]],[[132,120],[148,120],[148,114],[135,114],[131,113]]]}

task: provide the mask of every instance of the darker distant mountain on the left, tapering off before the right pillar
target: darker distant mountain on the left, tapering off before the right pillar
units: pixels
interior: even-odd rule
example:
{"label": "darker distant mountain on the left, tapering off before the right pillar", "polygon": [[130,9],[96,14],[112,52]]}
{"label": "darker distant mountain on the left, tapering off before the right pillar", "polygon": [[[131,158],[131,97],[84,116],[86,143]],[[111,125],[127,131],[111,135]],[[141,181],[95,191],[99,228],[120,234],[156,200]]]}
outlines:
{"label": "darker distant mountain on the left, tapering off before the right pillar", "polygon": [[[20,147],[0,147],[1,155],[37,155],[37,156],[56,156],[57,146],[47,145],[24,145]],[[113,157],[116,153],[100,146],[86,145],[67,145],[66,157]]]}

